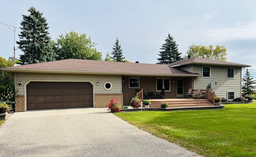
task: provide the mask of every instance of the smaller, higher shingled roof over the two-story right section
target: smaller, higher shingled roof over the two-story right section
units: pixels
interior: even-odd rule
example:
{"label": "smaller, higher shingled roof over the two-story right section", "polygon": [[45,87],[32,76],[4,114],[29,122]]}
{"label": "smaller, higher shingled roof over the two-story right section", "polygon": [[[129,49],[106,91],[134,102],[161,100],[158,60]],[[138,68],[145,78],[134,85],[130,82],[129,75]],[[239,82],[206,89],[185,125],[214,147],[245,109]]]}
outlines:
{"label": "smaller, higher shingled roof over the two-story right section", "polygon": [[232,62],[224,62],[219,60],[212,60],[212,59],[206,59],[206,58],[200,58],[200,57],[192,57],[186,60],[181,60],[178,62],[174,62],[171,64],[168,64],[170,67],[177,67],[177,66],[184,66],[188,64],[204,64],[204,65],[215,65],[215,66],[234,66],[234,67],[250,67],[249,65],[245,64],[238,64],[238,63],[232,63]]}

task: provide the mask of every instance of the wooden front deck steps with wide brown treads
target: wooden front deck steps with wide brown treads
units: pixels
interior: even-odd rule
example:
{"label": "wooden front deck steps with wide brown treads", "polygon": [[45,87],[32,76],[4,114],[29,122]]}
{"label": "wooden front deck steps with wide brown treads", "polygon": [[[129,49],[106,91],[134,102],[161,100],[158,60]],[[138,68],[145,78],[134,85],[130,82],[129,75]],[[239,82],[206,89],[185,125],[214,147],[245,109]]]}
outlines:
{"label": "wooden front deck steps with wide brown treads", "polygon": [[[212,103],[208,99],[184,99],[184,98],[174,98],[174,99],[150,99],[151,104],[150,108],[161,108],[161,103],[168,103],[168,108],[177,108],[177,107],[205,107],[205,106],[215,106],[215,103]],[[145,107],[143,105],[143,107]]]}

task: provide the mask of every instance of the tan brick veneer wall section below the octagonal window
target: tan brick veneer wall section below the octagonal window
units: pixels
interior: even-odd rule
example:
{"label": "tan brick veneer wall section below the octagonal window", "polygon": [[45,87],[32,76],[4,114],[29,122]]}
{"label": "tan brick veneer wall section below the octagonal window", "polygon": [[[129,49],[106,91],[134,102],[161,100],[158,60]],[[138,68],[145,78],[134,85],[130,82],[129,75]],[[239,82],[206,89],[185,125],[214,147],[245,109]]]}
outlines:
{"label": "tan brick veneer wall section below the octagonal window", "polygon": [[111,99],[118,99],[120,105],[123,105],[123,93],[111,93],[111,94],[94,94],[95,108],[106,107]]}

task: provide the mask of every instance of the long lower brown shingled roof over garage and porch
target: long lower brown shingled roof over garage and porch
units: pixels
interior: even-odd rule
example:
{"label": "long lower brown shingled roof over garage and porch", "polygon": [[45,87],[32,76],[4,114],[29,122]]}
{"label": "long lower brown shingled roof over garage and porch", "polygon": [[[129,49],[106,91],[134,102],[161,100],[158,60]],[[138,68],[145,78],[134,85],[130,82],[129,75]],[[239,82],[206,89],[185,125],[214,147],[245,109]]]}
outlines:
{"label": "long lower brown shingled roof over garage and porch", "polygon": [[81,73],[81,74],[121,74],[142,76],[200,76],[171,68],[162,64],[141,64],[126,62],[108,62],[97,60],[67,59],[38,64],[27,64],[1,68],[5,72],[51,72],[51,73]]}

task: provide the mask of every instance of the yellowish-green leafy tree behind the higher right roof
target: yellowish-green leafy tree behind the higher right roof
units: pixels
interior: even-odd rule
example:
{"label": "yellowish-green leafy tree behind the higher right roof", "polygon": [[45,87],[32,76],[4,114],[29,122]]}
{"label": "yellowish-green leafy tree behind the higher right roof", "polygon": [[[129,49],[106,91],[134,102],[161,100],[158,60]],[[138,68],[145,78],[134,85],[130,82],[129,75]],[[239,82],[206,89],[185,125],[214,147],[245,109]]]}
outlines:
{"label": "yellowish-green leafy tree behind the higher right roof", "polygon": [[[226,61],[227,60],[227,53],[225,46],[216,45],[213,48],[212,45],[209,46],[197,46],[192,44],[188,47],[188,51],[186,52],[186,56],[190,55],[192,57],[201,57],[201,58],[214,58],[214,60]],[[186,58],[186,56],[184,58]]]}

